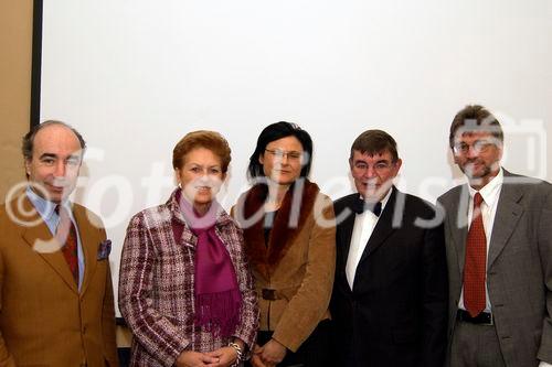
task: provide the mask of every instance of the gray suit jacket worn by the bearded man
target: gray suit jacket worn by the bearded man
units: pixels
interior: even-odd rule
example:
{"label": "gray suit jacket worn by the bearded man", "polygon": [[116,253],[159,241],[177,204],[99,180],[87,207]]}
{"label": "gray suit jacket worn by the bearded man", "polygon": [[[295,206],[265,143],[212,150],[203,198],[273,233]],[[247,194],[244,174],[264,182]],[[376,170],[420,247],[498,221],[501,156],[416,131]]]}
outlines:
{"label": "gray suit jacket worn by the bearded man", "polygon": [[[467,237],[467,185],[438,198],[445,209],[449,342],[460,296]],[[505,170],[487,259],[487,288],[509,367],[552,363],[552,185]]]}

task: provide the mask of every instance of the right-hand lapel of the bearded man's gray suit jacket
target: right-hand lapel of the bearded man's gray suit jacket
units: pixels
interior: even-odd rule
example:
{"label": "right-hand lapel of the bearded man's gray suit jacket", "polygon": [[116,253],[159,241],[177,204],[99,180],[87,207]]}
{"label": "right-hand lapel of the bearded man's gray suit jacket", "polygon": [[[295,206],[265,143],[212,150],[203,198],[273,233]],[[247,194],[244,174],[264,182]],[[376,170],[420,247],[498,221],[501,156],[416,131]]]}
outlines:
{"label": "right-hand lapel of the bearded man's gray suit jacket", "polygon": [[[506,171],[505,177],[507,177]],[[519,185],[508,184],[507,180],[505,180],[498,199],[495,223],[492,225],[487,269],[490,268],[492,262],[500,255],[513,229],[518,225],[519,218],[523,213],[523,207],[518,204],[522,196],[523,192],[519,188]]]}

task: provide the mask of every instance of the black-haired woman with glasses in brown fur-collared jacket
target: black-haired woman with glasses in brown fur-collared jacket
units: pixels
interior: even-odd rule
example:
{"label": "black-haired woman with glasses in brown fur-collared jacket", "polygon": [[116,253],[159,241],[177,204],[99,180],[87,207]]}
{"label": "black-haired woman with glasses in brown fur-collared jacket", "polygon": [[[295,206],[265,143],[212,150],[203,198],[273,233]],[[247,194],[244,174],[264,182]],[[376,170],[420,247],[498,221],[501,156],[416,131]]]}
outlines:
{"label": "black-haired woman with glasses in brown fur-collared jacket", "polygon": [[254,367],[328,364],[335,218],[329,197],[307,180],[311,156],[298,126],[266,127],[250,159],[253,186],[234,207],[261,309]]}

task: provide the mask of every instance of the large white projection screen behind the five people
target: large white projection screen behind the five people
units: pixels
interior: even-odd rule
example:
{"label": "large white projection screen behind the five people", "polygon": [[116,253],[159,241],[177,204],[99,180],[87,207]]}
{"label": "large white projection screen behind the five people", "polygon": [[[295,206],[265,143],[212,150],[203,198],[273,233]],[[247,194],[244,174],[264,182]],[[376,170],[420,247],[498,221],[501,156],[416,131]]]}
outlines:
{"label": "large white projection screen behind the five people", "polygon": [[507,169],[550,180],[550,0],[41,2],[36,122],[88,143],[74,201],[105,222],[116,291],[128,220],[168,198],[172,148],[192,130],[231,144],[225,208],[280,120],[311,134],[310,177],[331,197],[352,191],[350,145],[376,128],[399,143],[396,185],[434,202],[461,180],[447,139],[467,104],[501,120]]}

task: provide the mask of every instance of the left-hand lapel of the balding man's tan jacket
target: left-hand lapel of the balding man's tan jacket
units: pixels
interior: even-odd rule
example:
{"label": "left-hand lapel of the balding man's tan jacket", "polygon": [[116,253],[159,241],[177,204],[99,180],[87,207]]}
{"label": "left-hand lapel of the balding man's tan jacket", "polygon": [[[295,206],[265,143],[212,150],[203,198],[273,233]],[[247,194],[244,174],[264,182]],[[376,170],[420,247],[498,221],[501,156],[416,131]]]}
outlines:
{"label": "left-hand lapel of the balding man's tan jacket", "polygon": [[[12,209],[17,211],[14,213],[20,213],[17,207],[13,207]],[[71,273],[67,262],[60,250],[62,245],[52,236],[46,224],[42,220],[40,214],[36,213],[26,195],[23,199],[23,211],[26,214],[33,214],[30,218],[24,214],[19,214],[19,218],[29,218],[29,223],[35,223],[33,226],[23,227],[21,236],[24,241],[31,246],[36,255],[40,256],[60,276],[60,278],[63,279],[68,288],[71,288],[75,293],[78,293],[73,274]]]}

